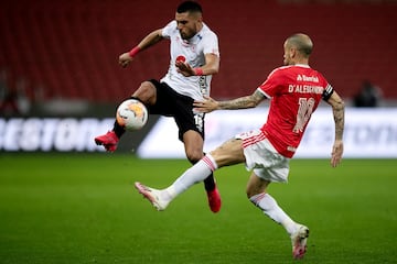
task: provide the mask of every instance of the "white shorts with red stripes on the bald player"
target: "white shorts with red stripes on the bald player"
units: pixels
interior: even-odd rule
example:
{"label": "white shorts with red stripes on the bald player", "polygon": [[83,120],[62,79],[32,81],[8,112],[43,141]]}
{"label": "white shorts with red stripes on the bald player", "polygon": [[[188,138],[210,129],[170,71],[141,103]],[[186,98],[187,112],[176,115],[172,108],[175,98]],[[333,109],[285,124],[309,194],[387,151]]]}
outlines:
{"label": "white shorts with red stripes on the bald player", "polygon": [[260,130],[237,134],[243,140],[247,170],[266,180],[287,183],[289,158],[280,155]]}

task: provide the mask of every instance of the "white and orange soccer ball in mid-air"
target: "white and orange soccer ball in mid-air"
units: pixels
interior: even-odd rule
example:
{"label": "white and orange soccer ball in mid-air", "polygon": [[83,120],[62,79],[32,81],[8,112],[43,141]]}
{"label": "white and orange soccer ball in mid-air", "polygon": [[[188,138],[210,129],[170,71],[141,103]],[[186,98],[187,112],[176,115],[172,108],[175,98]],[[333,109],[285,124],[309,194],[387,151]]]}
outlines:
{"label": "white and orange soccer ball in mid-air", "polygon": [[117,123],[127,131],[136,131],[148,122],[148,109],[137,99],[128,99],[117,108]]}

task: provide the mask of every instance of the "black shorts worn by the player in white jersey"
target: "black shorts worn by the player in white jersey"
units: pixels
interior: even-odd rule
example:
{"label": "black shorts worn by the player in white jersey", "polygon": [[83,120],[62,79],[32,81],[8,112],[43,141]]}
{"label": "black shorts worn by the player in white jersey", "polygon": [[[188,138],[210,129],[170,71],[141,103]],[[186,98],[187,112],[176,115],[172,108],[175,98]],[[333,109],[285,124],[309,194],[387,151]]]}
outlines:
{"label": "black shorts worn by the player in white jersey", "polygon": [[149,80],[157,90],[157,100],[153,106],[148,106],[148,110],[153,114],[173,117],[179,129],[179,139],[182,141],[183,134],[193,130],[200,133],[204,140],[204,113],[193,111],[193,98],[183,96],[173,90],[165,82],[155,79]]}

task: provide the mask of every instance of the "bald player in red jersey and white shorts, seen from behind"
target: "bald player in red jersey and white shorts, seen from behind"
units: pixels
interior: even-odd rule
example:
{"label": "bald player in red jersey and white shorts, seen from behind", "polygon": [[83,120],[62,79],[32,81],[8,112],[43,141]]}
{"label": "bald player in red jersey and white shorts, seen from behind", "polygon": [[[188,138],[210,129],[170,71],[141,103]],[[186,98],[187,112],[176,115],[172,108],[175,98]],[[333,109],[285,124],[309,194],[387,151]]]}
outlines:
{"label": "bald player in red jersey and white shorts, seen from behind", "polygon": [[265,215],[280,223],[292,242],[294,258],[302,258],[307,250],[309,229],[293,221],[268,194],[270,183],[286,183],[289,160],[303,136],[304,130],[321,100],[331,105],[335,123],[335,139],[331,165],[335,167],[343,154],[344,102],[326,79],[309,66],[313,44],[305,34],[294,34],[285,42],[285,65],[276,68],[253,95],[228,101],[207,98],[196,101],[202,112],[217,109],[254,108],[270,99],[267,122],[258,130],[242,133],[206,154],[202,161],[182,174],[165,189],[154,189],[136,183],[136,187],[158,209],[167,206],[186,190],[223,166],[245,163],[251,176],[247,197]]}

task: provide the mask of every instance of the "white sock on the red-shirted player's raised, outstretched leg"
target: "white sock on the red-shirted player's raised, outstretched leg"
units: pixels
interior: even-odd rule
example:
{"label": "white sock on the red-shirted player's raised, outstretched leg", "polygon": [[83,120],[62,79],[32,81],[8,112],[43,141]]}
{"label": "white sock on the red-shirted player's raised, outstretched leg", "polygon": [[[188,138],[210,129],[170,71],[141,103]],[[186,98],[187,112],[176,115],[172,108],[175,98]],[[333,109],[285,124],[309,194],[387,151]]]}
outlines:
{"label": "white sock on the red-shirted player's raised, outstretched leg", "polygon": [[185,170],[170,187],[165,189],[167,195],[164,195],[164,198],[167,199],[168,196],[168,200],[172,200],[191,186],[203,182],[216,168],[217,165],[215,160],[210,154],[206,154],[200,162]]}

